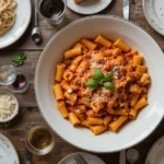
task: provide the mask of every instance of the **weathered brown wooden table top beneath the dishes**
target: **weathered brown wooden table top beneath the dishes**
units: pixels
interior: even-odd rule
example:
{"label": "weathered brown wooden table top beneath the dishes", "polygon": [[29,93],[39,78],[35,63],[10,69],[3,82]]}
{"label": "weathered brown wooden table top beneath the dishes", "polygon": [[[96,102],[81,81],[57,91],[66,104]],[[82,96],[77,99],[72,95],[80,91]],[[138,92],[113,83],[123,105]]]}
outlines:
{"label": "weathered brown wooden table top beneath the dishes", "polygon": [[[113,14],[122,16],[122,0],[113,0],[113,3],[105,9],[101,14]],[[0,132],[5,134],[14,144],[21,164],[25,164],[24,161],[24,138],[26,131],[36,126],[36,125],[46,125],[44,121],[34,94],[34,74],[37,60],[45,47],[45,45],[49,42],[49,39],[65,25],[70,22],[82,17],[83,15],[79,15],[71,10],[67,10],[65,22],[59,26],[49,25],[45,20],[39,17],[39,26],[43,33],[44,42],[42,45],[36,46],[31,39],[31,32],[34,26],[32,21],[28,30],[23,35],[23,37],[15,43],[14,45],[8,47],[7,49],[0,50],[0,66],[3,65],[13,65],[11,59],[14,57],[14,54],[17,51],[25,51],[27,54],[27,59],[22,69],[25,69],[31,79],[31,87],[24,94],[16,94],[21,108],[19,116],[9,122],[9,125],[0,125]],[[32,19],[33,20],[33,19]],[[143,10],[142,10],[142,0],[132,0],[131,9],[130,9],[130,20],[138,25],[142,26],[161,46],[164,50],[164,38],[159,35],[153,28],[148,24]],[[5,127],[4,127],[5,126]],[[150,150],[151,145],[164,134],[164,120],[161,122],[159,128],[143,142],[138,144],[136,149],[140,152],[140,159],[136,164],[143,164],[147,153]],[[55,134],[56,138],[56,147],[55,149],[46,156],[37,156],[34,155],[33,161],[34,164],[57,164],[62,157],[68,154],[71,154],[77,151],[81,151],[61,140],[58,136]],[[102,157],[107,164],[118,164],[119,153],[113,154],[96,154]]]}

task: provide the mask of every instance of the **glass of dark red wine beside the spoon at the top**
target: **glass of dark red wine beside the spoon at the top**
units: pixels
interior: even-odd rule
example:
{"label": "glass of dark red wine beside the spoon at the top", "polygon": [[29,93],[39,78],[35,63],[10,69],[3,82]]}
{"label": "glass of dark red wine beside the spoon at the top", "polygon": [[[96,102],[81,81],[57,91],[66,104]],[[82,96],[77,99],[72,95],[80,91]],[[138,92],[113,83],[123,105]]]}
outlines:
{"label": "glass of dark red wine beside the spoon at the top", "polygon": [[50,24],[59,24],[65,17],[67,2],[66,0],[37,0],[36,8]]}

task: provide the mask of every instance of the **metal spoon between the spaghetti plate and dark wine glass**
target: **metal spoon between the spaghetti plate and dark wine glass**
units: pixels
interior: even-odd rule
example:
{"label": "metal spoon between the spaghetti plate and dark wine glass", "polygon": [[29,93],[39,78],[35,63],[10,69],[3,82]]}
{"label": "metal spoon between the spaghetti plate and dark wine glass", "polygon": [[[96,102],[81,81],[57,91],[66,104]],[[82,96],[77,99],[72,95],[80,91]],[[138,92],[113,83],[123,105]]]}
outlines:
{"label": "metal spoon between the spaghetti plate and dark wine glass", "polygon": [[35,26],[32,31],[32,39],[34,40],[35,44],[40,44],[42,42],[42,34],[40,30],[38,27],[38,14],[37,14],[37,0],[35,0]]}

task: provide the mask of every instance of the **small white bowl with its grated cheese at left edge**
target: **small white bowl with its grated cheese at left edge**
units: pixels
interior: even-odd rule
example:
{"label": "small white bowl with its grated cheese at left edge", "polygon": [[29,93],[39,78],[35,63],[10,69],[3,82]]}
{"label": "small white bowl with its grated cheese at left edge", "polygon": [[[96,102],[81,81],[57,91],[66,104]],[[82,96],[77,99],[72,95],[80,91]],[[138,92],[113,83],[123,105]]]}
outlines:
{"label": "small white bowl with its grated cheese at left edge", "polygon": [[17,98],[7,90],[0,90],[0,122],[12,120],[19,114]]}

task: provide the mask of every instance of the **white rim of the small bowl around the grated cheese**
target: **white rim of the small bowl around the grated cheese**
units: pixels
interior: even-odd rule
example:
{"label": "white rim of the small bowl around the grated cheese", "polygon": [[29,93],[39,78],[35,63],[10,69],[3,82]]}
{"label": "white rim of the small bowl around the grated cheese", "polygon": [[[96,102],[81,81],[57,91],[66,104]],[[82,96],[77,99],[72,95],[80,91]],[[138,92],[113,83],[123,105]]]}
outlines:
{"label": "white rim of the small bowl around the grated cheese", "polygon": [[19,105],[17,98],[10,91],[2,89],[2,90],[0,90],[0,95],[1,94],[8,94],[15,102],[15,109],[14,109],[13,114],[11,116],[9,116],[8,118],[5,118],[5,119],[0,118],[0,122],[7,122],[7,121],[12,120],[19,114],[20,105]]}

